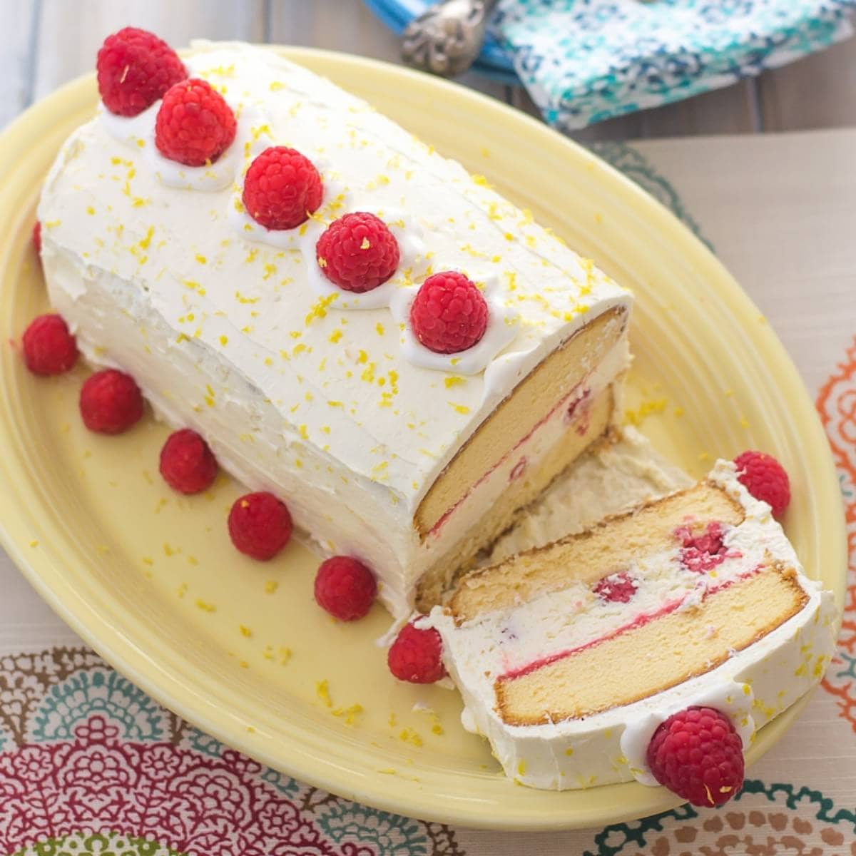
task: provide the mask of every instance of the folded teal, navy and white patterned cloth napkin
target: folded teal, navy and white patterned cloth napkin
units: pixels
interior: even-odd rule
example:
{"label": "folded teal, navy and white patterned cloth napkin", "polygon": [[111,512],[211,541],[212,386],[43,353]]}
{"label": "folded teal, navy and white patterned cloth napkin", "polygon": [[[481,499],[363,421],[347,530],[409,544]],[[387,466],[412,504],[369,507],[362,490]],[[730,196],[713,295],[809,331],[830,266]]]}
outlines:
{"label": "folded teal, navy and white patterned cloth napkin", "polygon": [[495,33],[564,131],[728,86],[853,33],[856,0],[502,0]]}

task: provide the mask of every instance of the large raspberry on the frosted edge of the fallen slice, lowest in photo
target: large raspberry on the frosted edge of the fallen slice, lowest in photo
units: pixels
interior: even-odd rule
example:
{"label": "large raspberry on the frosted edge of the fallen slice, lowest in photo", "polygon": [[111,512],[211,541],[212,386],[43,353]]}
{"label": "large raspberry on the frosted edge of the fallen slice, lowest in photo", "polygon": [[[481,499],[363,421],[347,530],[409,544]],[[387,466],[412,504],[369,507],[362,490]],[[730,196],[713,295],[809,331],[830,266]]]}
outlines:
{"label": "large raspberry on the frosted edge of the fallen slice, lowest in photo", "polygon": [[743,785],[743,741],[728,716],[689,707],[669,716],[648,744],[651,774],[693,805],[722,805]]}

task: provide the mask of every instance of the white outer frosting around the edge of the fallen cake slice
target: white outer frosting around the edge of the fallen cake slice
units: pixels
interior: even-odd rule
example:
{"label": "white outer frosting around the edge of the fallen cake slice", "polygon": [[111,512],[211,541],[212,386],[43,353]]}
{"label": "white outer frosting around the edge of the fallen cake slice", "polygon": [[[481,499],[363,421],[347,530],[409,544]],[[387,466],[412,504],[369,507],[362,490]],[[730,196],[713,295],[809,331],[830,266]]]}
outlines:
{"label": "white outer frosting around the edge of the fallen cake slice", "polygon": [[[747,556],[767,550],[773,558],[792,565],[809,601],[772,633],[698,678],[585,719],[508,726],[495,710],[494,677],[484,676],[484,670],[490,669],[490,659],[482,659],[480,653],[484,637],[462,633],[443,609],[432,610],[427,621],[443,637],[444,662],[464,699],[464,727],[490,740],[507,776],[533,788],[560,790],[632,779],[651,784],[645,746],[657,724],[675,710],[692,704],[716,706],[732,719],[746,746],[758,728],[823,676],[835,650],[836,609],[831,593],[805,578],[769,506],[746,492],[733,464],[717,462],[710,478],[746,510],[746,520],[729,533],[729,546]],[[526,633],[535,636],[538,630],[530,622]],[[514,656],[526,660],[526,656]],[[502,668],[501,660],[496,660],[497,667]]]}

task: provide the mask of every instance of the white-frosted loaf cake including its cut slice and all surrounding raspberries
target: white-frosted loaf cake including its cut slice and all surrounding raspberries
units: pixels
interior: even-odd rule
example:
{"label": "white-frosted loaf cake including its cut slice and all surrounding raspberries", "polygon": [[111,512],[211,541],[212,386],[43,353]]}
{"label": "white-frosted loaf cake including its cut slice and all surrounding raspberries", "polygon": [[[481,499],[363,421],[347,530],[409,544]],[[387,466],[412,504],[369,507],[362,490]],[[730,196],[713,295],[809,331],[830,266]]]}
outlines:
{"label": "white-frosted loaf cake including its cut slice and all surrounding raspberries", "polygon": [[516,782],[734,796],[756,729],[823,675],[835,607],[770,455],[692,485],[622,437],[630,294],[274,51],[182,60],[126,28],[98,84],[39,202],[56,312],[27,366],[100,366],[80,414],[104,434],[145,395],[177,429],[167,484],[247,484],[229,536],[259,560],[296,524],[330,556],[318,605],[380,597],[392,675],[451,675]]}

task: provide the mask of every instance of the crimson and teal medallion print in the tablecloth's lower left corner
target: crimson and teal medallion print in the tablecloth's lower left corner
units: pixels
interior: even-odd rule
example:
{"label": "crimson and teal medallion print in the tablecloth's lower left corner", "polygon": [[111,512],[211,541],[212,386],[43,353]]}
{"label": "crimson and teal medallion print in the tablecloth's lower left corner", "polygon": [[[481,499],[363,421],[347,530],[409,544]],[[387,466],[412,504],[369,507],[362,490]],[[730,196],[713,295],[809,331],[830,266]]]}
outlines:
{"label": "crimson and teal medallion print in the tablecloth's lower left corner", "polygon": [[0,658],[0,853],[461,856],[206,737],[85,648]]}

